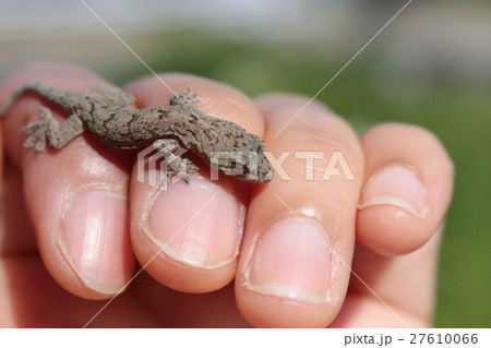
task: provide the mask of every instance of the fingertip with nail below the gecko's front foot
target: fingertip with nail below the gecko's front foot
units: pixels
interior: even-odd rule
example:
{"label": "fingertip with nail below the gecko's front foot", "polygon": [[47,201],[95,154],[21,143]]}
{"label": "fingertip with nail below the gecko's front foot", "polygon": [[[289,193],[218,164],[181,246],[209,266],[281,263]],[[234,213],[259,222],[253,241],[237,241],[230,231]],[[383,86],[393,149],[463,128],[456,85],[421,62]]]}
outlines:
{"label": "fingertip with nail below the gecko's front foot", "polygon": [[131,185],[133,250],[154,279],[178,291],[203,293],[235,276],[243,202],[231,187],[197,175],[165,191],[148,181]]}

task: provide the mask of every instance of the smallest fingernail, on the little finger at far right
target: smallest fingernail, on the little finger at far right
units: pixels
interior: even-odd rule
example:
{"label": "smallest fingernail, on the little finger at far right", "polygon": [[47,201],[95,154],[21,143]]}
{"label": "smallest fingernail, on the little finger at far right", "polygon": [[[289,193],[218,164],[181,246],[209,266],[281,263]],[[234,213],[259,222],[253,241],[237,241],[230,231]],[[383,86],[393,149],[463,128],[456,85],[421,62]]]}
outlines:
{"label": "smallest fingernail, on the little finger at far right", "polygon": [[390,166],[375,172],[364,185],[359,209],[373,205],[398,206],[415,216],[424,217],[424,189],[415,172]]}

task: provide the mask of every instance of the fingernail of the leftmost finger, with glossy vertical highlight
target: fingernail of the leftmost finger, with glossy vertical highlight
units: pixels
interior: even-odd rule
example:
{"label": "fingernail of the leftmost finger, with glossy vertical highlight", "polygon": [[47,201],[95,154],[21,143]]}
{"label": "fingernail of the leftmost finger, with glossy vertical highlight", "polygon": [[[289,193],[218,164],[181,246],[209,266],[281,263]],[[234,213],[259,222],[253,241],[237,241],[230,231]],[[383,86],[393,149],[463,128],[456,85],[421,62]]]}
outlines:
{"label": "fingernail of the leftmost finger, with glossy vertical highlight", "polygon": [[64,216],[59,245],[80,279],[100,293],[116,293],[125,284],[131,254],[127,200],[107,191],[79,196]]}

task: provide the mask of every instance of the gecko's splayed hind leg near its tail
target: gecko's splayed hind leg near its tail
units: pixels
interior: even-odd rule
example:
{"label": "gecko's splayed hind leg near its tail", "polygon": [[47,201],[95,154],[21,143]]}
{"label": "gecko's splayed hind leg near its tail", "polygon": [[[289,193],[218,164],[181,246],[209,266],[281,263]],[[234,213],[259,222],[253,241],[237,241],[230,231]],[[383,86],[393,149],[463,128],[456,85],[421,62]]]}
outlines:
{"label": "gecko's splayed hind leg near its tail", "polygon": [[82,120],[76,115],[70,115],[61,125],[52,117],[48,108],[40,108],[40,116],[43,118],[41,121],[31,123],[24,128],[26,133],[34,131],[34,134],[25,141],[24,147],[31,147],[36,144],[36,151],[41,152],[46,146],[46,137],[48,137],[49,145],[55,148],[61,148],[84,131]]}

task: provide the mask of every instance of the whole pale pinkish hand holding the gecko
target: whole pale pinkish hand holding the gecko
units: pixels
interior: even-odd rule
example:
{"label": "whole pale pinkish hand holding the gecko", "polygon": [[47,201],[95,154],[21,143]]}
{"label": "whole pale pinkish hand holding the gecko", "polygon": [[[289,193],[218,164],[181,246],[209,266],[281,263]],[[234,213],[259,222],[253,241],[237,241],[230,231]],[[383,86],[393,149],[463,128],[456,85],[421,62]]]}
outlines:
{"label": "whole pale pinkish hand holding the gecko", "polygon": [[[251,100],[197,76],[160,77],[180,93],[192,87],[201,98],[199,109],[258,134],[276,158],[283,151],[324,152],[327,159],[314,163],[323,169],[330,154],[340,151],[355,180],[321,180],[322,171],[315,170],[308,181],[306,159],[290,155],[283,168],[291,180],[276,173],[267,184],[225,176],[211,181],[202,168],[190,175],[190,184],[158,194],[136,180],[136,152],[106,147],[89,133],[61,149],[25,149],[22,128],[47,106],[25,95],[2,121],[1,327],[84,326],[105,303],[94,300],[112,298],[132,278],[135,260],[145,269],[89,327],[404,327],[350,275],[351,263],[407,325],[431,325],[438,230],[454,172],[434,135],[387,123],[360,139],[342,117],[314,103],[275,136],[308,98],[275,94]],[[81,68],[35,64],[3,83],[0,100],[28,81],[71,92],[109,86]],[[137,108],[166,105],[171,96],[154,76],[124,89]],[[51,110],[63,120],[60,109]],[[368,199],[381,181],[391,181],[378,180],[380,172],[399,175],[390,193],[412,202],[414,209],[397,200],[375,204]],[[414,177],[420,187],[404,181]],[[421,197],[411,193],[418,190]],[[291,220],[299,225],[282,225]],[[312,229],[297,233],[303,223]],[[313,243],[312,230],[328,242]],[[170,243],[175,248],[158,253],[178,232]],[[288,233],[289,240],[280,237]],[[282,279],[283,286],[273,286]]]}

